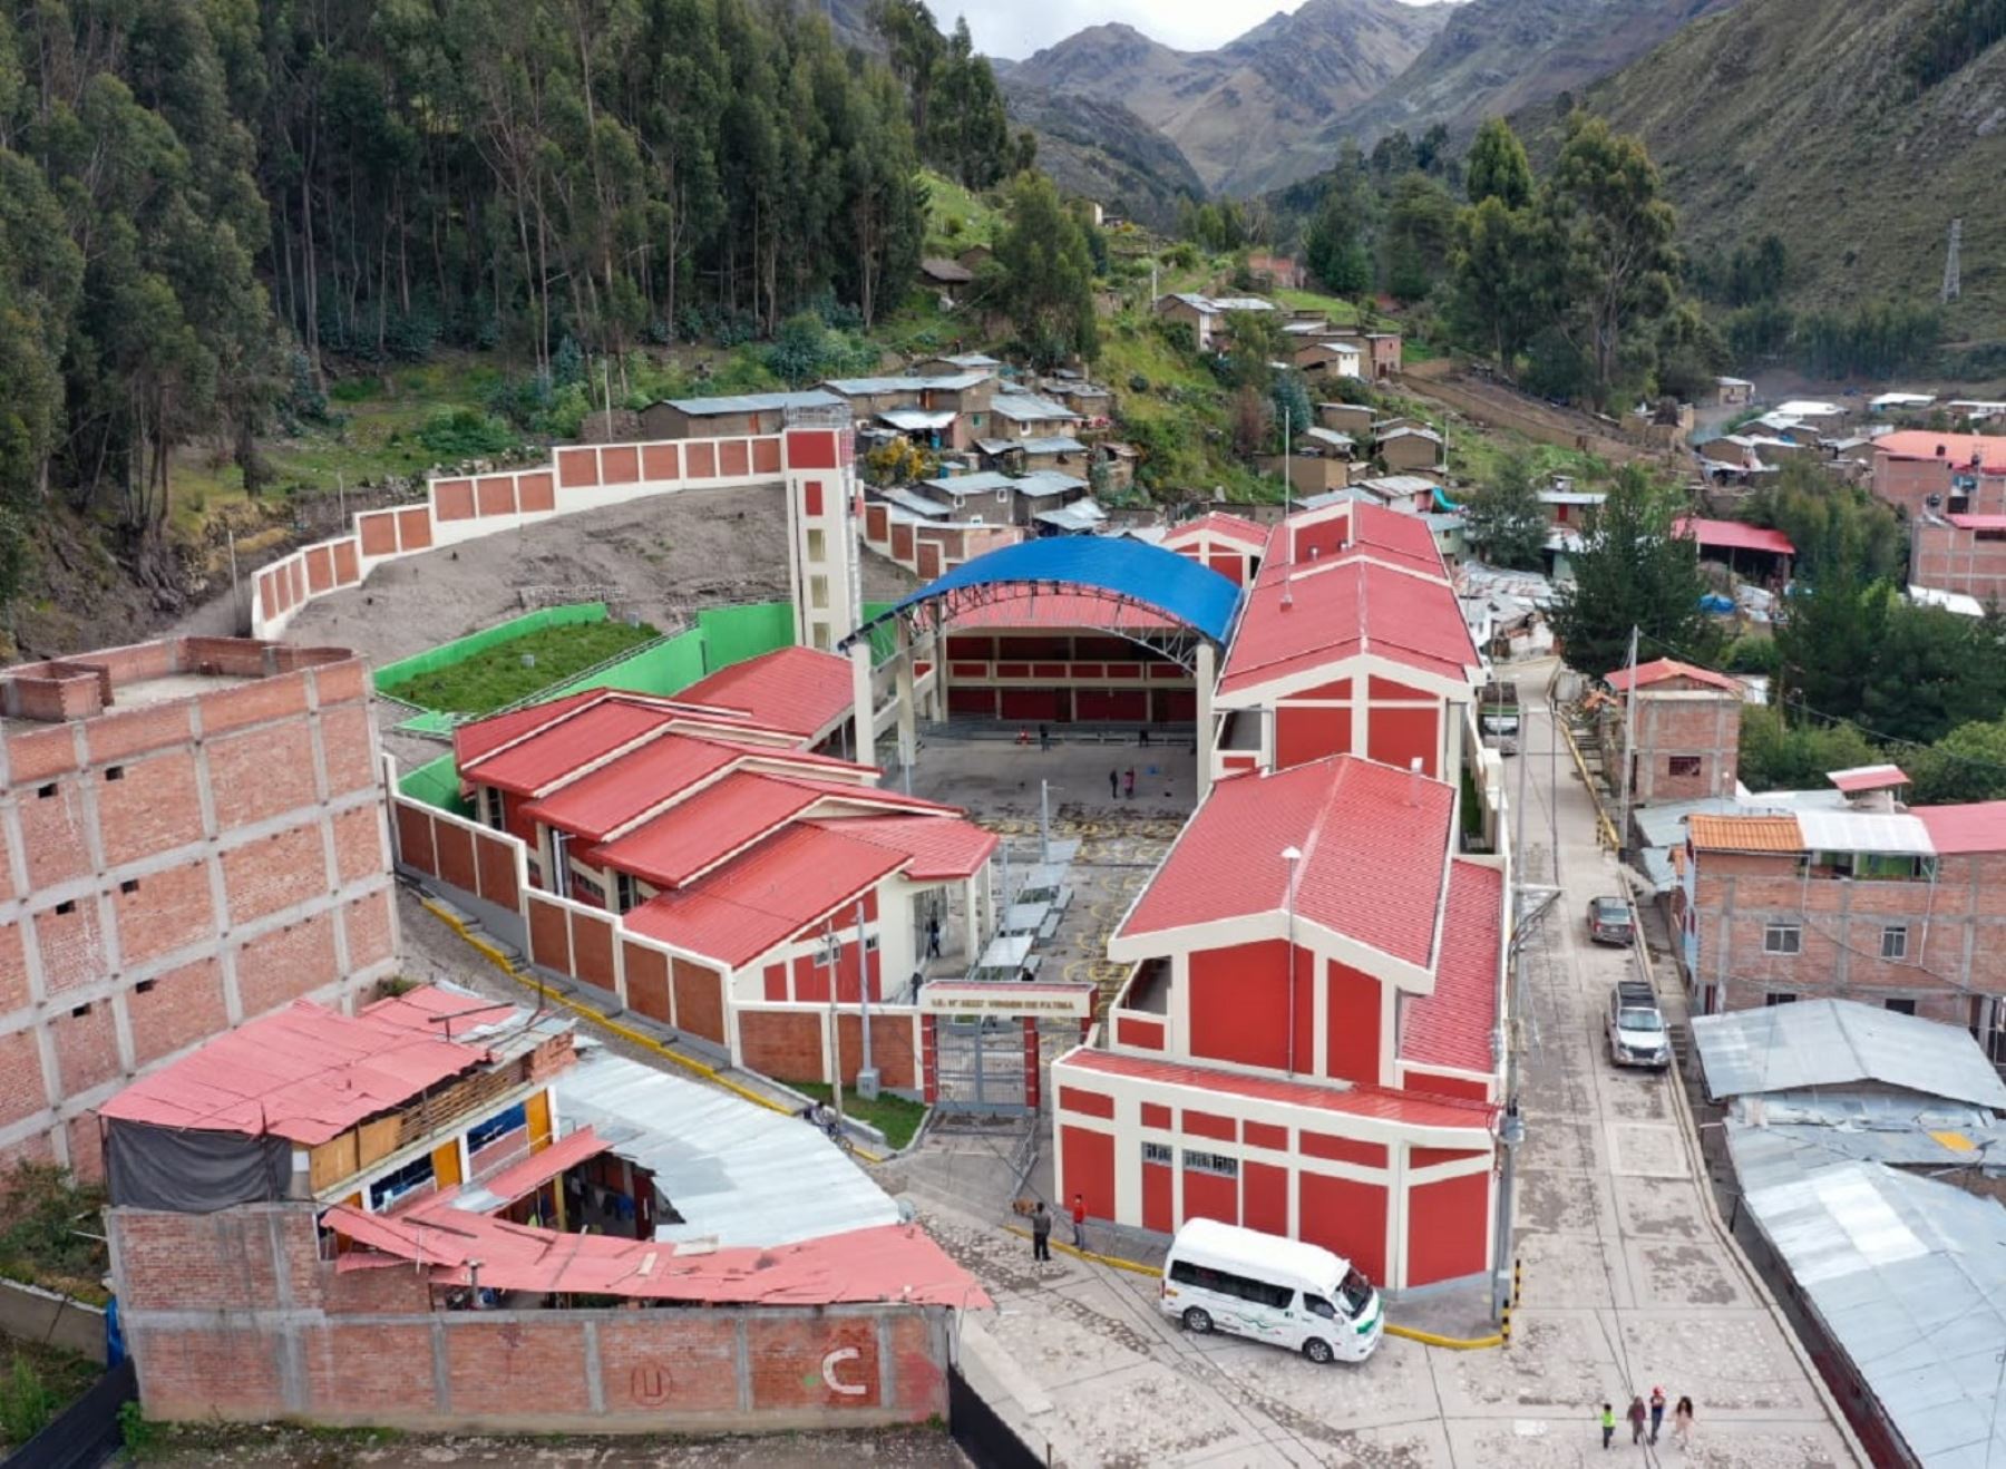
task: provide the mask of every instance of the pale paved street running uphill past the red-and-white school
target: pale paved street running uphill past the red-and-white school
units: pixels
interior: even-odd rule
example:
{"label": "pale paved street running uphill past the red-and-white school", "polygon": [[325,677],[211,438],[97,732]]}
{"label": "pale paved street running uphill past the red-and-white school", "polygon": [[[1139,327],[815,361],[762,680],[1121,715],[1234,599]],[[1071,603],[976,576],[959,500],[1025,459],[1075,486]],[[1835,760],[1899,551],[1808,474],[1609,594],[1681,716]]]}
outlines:
{"label": "pale paved street running uphill past the red-and-white school", "polygon": [[[1545,668],[1519,670],[1527,688]],[[1595,1415],[1663,1385],[1689,1393],[1689,1455],[1617,1457],[1709,1469],[1854,1465],[1809,1365],[1721,1240],[1669,1078],[1617,1074],[1599,1013],[1625,971],[1595,949],[1583,911],[1617,891],[1587,793],[1551,759],[1543,710],[1527,730],[1527,867],[1555,873],[1557,907],[1531,939],[1523,1034],[1527,1144],[1519,1168],[1525,1296],[1509,1349],[1442,1351],[1388,1337],[1362,1367],[1188,1337],[1155,1308],[1155,1282],[1059,1258],[931,1200],[929,1228],[997,1298],[971,1318],[971,1383],[1037,1453],[1065,1465],[1587,1465],[1611,1463]],[[1519,761],[1507,767],[1517,791]],[[1555,779],[1557,773],[1557,779]],[[1669,973],[1663,981],[1671,985]],[[1400,1318],[1398,1308],[1392,1312]]]}

